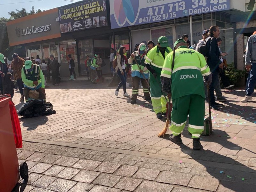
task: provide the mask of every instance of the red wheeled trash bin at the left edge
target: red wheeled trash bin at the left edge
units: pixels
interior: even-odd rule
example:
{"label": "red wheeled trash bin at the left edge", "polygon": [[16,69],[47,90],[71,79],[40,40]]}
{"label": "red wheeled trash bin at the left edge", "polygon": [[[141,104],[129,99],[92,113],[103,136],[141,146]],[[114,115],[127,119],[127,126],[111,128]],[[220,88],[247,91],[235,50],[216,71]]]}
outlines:
{"label": "red wheeled trash bin at the left edge", "polygon": [[0,192],[12,191],[20,180],[20,175],[23,179],[28,178],[28,165],[26,163],[21,164],[19,174],[19,162],[12,126],[14,112],[13,108],[10,110],[9,102],[12,102],[11,97],[8,95],[0,96]]}

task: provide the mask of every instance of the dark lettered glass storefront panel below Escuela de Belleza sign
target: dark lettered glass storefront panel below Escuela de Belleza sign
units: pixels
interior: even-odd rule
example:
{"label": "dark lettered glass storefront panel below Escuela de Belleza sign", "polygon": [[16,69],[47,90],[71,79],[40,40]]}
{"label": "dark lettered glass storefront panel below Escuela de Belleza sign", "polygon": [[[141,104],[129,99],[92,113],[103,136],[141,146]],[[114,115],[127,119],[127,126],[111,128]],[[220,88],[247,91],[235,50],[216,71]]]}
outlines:
{"label": "dark lettered glass storefront panel below Escuela de Belleza sign", "polygon": [[86,75],[86,68],[84,61],[86,56],[89,55],[90,58],[93,57],[93,40],[83,39],[78,41],[78,57],[79,57],[79,74]]}

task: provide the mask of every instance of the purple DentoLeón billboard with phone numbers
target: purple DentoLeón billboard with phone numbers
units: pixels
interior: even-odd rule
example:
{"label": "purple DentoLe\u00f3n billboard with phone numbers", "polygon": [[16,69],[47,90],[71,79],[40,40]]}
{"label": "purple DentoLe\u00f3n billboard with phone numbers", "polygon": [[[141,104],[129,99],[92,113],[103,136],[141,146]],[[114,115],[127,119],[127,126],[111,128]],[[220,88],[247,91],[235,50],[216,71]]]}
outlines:
{"label": "purple DentoLe\u00f3n billboard with phone numbers", "polygon": [[230,0],[111,0],[111,28],[142,25],[230,9]]}

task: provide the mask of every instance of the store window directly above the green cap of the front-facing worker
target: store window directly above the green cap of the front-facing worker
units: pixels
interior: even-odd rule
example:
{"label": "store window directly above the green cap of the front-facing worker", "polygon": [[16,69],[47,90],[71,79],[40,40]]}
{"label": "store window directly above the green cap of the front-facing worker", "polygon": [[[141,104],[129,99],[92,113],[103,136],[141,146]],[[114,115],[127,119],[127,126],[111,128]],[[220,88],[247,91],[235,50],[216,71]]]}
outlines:
{"label": "store window directly above the green cap of the front-facing worker", "polygon": [[173,47],[172,27],[151,30],[151,40],[155,45],[157,45],[157,40],[160,36],[166,36],[169,46]]}

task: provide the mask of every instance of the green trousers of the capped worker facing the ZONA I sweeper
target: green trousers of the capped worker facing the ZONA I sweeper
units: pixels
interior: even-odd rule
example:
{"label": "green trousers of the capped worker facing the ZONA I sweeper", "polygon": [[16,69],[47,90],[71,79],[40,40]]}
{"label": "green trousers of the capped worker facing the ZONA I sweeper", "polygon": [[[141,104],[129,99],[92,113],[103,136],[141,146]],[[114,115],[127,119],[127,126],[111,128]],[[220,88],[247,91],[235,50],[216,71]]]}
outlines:
{"label": "green trousers of the capped worker facing the ZONA I sweeper", "polygon": [[149,80],[150,80],[150,94],[151,94],[151,101],[153,105],[154,111],[157,113],[165,113],[166,112],[166,100],[164,95],[167,96],[164,92],[162,92],[162,84],[161,84],[161,71],[162,68],[157,68],[155,66],[151,67],[156,72],[156,78],[149,73]]}

